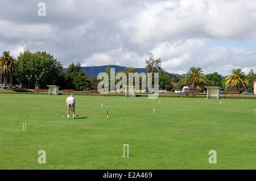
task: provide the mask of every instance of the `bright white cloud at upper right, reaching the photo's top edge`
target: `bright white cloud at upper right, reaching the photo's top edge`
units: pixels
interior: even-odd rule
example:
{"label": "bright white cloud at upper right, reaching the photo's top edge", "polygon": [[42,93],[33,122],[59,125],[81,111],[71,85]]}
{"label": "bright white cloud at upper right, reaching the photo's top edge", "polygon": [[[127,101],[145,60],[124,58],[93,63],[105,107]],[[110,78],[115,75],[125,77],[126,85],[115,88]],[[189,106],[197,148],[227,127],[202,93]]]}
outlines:
{"label": "bright white cloud at upper right, reaching the photo's top edge", "polygon": [[[119,27],[131,44],[183,38],[255,38],[256,1],[156,1]],[[252,23],[254,22],[254,23]]]}

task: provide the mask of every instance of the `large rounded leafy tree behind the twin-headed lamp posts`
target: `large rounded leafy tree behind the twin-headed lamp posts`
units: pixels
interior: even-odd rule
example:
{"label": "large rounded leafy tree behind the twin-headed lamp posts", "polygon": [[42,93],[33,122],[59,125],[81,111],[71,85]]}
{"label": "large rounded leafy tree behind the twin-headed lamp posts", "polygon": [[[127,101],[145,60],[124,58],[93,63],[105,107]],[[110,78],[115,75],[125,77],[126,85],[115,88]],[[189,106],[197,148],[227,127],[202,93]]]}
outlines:
{"label": "large rounded leafy tree behind the twin-headed lamp posts", "polygon": [[32,75],[30,85],[36,84],[35,75],[41,75],[39,80],[41,88],[46,88],[46,85],[63,86],[63,65],[51,54],[46,52],[31,53],[30,50],[26,50],[18,56],[17,66],[18,71],[15,73],[15,77],[25,87],[28,85],[26,75]]}

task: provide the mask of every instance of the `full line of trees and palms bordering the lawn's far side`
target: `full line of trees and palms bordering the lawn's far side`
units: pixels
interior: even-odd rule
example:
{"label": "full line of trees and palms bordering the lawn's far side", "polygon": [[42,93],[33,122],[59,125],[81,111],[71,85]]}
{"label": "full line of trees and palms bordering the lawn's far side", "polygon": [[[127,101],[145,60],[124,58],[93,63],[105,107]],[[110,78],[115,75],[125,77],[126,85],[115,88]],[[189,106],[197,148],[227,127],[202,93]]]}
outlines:
{"label": "full line of trees and palms bordering the lawn's far side", "polygon": [[[242,69],[232,69],[230,75],[223,78],[217,72],[204,74],[200,67],[192,66],[183,75],[171,74],[162,67],[161,58],[154,58],[152,54],[145,60],[146,74],[152,73],[154,83],[154,73],[159,73],[159,89],[174,91],[182,86],[188,86],[191,90],[205,90],[205,86],[220,86],[226,90],[240,90],[253,92],[253,82],[256,81],[256,74],[251,69],[246,75]],[[125,68],[127,74],[137,72],[136,68]],[[17,60],[11,56],[10,51],[3,51],[0,57],[0,73],[5,75],[4,86],[6,87],[7,74],[13,74],[13,83],[22,84],[27,88],[28,79],[26,75],[31,76],[30,85],[37,85],[36,76],[40,76],[39,86],[44,89],[47,85],[58,85],[63,89],[75,89],[81,91],[84,89],[96,89],[100,80],[97,77],[87,77],[81,70],[79,63],[69,65],[64,72],[60,61],[46,52],[30,52],[26,50],[20,53]],[[106,73],[110,75],[110,67],[106,68]]]}

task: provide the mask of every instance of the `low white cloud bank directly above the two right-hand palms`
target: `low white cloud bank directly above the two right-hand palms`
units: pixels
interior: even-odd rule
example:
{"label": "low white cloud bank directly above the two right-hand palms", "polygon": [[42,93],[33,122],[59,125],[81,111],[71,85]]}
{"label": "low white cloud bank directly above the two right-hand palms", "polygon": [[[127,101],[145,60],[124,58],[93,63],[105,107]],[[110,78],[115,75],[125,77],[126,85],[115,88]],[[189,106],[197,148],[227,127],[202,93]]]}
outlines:
{"label": "low white cloud bank directly above the two right-hand palms", "polygon": [[175,43],[156,45],[151,52],[162,58],[162,67],[171,73],[183,74],[191,66],[200,66],[206,74],[217,71],[227,75],[230,69],[242,68],[256,71],[256,53],[236,47],[206,48],[203,39],[188,39]]}

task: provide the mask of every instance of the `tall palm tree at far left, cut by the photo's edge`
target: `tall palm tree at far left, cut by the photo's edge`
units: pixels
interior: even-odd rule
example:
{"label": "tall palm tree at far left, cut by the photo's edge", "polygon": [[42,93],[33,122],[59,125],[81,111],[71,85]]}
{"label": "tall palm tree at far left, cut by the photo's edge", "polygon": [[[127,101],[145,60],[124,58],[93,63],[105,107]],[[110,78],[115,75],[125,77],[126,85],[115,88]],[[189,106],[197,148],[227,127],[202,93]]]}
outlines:
{"label": "tall palm tree at far left, cut by the photo's edge", "polygon": [[0,57],[0,73],[5,75],[3,87],[6,87],[7,74],[16,72],[16,60],[10,55],[10,51],[3,51]]}

